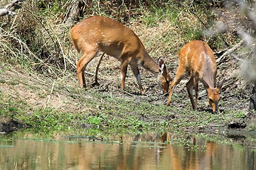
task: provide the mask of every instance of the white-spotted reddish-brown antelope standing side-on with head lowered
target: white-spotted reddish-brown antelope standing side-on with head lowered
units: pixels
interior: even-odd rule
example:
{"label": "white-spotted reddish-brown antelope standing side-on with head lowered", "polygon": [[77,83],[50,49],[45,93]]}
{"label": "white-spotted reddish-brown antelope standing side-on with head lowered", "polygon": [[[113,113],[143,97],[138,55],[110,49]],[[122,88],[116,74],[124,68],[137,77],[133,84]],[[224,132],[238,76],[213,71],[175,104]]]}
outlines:
{"label": "white-spotted reddish-brown antelope standing side-on with head lowered", "polygon": [[107,17],[91,16],[81,21],[70,30],[73,45],[82,53],[77,63],[78,80],[81,87],[85,87],[85,67],[97,55],[98,52],[105,52],[121,62],[121,89],[124,91],[124,80],[127,75],[128,64],[137,79],[141,94],[142,88],[139,67],[152,72],[156,77],[161,94],[169,90],[170,75],[159,57],[158,64],[146,52],[141,40],[135,33],[125,28],[121,23]]}

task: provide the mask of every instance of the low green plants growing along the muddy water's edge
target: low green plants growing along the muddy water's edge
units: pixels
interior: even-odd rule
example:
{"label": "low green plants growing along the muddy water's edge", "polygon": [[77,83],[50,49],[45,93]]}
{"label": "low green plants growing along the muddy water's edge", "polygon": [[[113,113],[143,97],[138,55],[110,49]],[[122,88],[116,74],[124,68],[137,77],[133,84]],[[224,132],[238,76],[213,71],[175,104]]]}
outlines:
{"label": "low green plants growing along the muddy water's edge", "polygon": [[[245,115],[235,111],[227,111],[223,116],[205,111],[194,113],[190,107],[184,109],[151,104],[143,96],[134,96],[145,100],[138,102],[132,98],[110,96],[99,91],[86,93],[87,96],[80,96],[78,101],[81,106],[87,107],[86,111],[67,113],[51,107],[33,108],[28,103],[14,100],[13,96],[1,92],[0,112],[1,115],[10,116],[23,127],[31,128],[33,132],[45,134],[83,133],[84,130],[90,129],[101,133],[142,133],[152,130],[196,132],[198,127],[207,127],[210,123],[227,123]],[[79,96],[80,91],[72,91],[70,94]]]}

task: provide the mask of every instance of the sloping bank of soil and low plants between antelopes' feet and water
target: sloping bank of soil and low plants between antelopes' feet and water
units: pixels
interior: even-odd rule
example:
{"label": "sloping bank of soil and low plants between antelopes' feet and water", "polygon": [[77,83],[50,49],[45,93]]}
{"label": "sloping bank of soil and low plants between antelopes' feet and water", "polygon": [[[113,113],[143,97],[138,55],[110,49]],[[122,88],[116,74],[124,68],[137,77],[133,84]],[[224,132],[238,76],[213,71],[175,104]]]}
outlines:
{"label": "sloping bank of soil and low plants between antelopes' feet and water", "polygon": [[[205,95],[198,101],[198,111],[193,112],[186,81],[177,86],[171,106],[166,107],[167,96],[159,95],[156,79],[145,70],[142,81],[146,95],[141,96],[132,72],[127,75],[126,90],[119,90],[119,69],[112,69],[110,81],[100,74],[100,86],[88,84],[87,89],[80,89],[75,73],[53,79],[15,67],[5,69],[4,65],[1,64],[0,111],[9,119],[1,124],[15,126],[5,128],[6,132],[26,128],[42,134],[157,130],[225,135],[229,131],[239,134],[255,130],[255,113],[248,111],[247,99],[238,100],[240,96],[232,94],[236,91],[228,91],[228,85],[220,92],[221,114],[216,115],[210,112]],[[203,91],[202,86],[200,89]]]}

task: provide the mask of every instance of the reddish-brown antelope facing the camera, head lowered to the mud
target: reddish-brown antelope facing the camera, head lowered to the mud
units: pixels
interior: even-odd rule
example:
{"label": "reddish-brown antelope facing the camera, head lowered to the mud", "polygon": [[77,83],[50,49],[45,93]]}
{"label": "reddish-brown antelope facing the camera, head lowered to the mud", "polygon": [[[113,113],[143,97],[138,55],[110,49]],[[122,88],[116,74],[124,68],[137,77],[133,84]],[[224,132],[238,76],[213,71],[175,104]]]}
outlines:
{"label": "reddish-brown antelope facing the camera, head lowered to the mud", "polygon": [[[191,100],[192,107],[196,111],[196,103],[198,100],[198,80],[203,83],[207,94],[210,107],[213,113],[218,112],[218,101],[220,99],[220,89],[223,86],[223,81],[215,86],[216,83],[216,60],[213,51],[203,41],[193,40],[184,45],[179,55],[178,69],[174,81],[171,82],[169,98],[166,106],[170,105],[171,94],[175,86],[185,77],[190,75],[191,79],[186,84],[188,96]],[[195,101],[193,99],[192,90],[195,89]]]}

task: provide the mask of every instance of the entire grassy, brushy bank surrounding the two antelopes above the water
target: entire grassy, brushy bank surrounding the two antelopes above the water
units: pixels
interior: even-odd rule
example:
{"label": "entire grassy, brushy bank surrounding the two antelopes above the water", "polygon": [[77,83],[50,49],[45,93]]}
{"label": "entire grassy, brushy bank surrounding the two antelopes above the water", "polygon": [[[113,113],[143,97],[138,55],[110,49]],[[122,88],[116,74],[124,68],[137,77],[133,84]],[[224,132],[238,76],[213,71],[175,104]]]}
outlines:
{"label": "entire grassy, brushy bank surrounding the two antelopes above the water", "polygon": [[[10,1],[1,1],[5,8]],[[124,132],[255,132],[255,18],[251,1],[22,1],[15,13],[0,17],[1,132],[27,128],[43,134]],[[9,8],[7,8],[9,9]],[[171,81],[178,53],[191,40],[213,50],[217,82],[225,79],[219,109],[208,106],[199,84],[197,111],[183,79],[166,107],[154,74],[140,69],[145,95],[128,67],[120,91],[120,62],[101,53],[85,72],[80,88],[80,55],[70,29],[88,16],[107,16],[130,28],[157,61],[164,59]]]}

